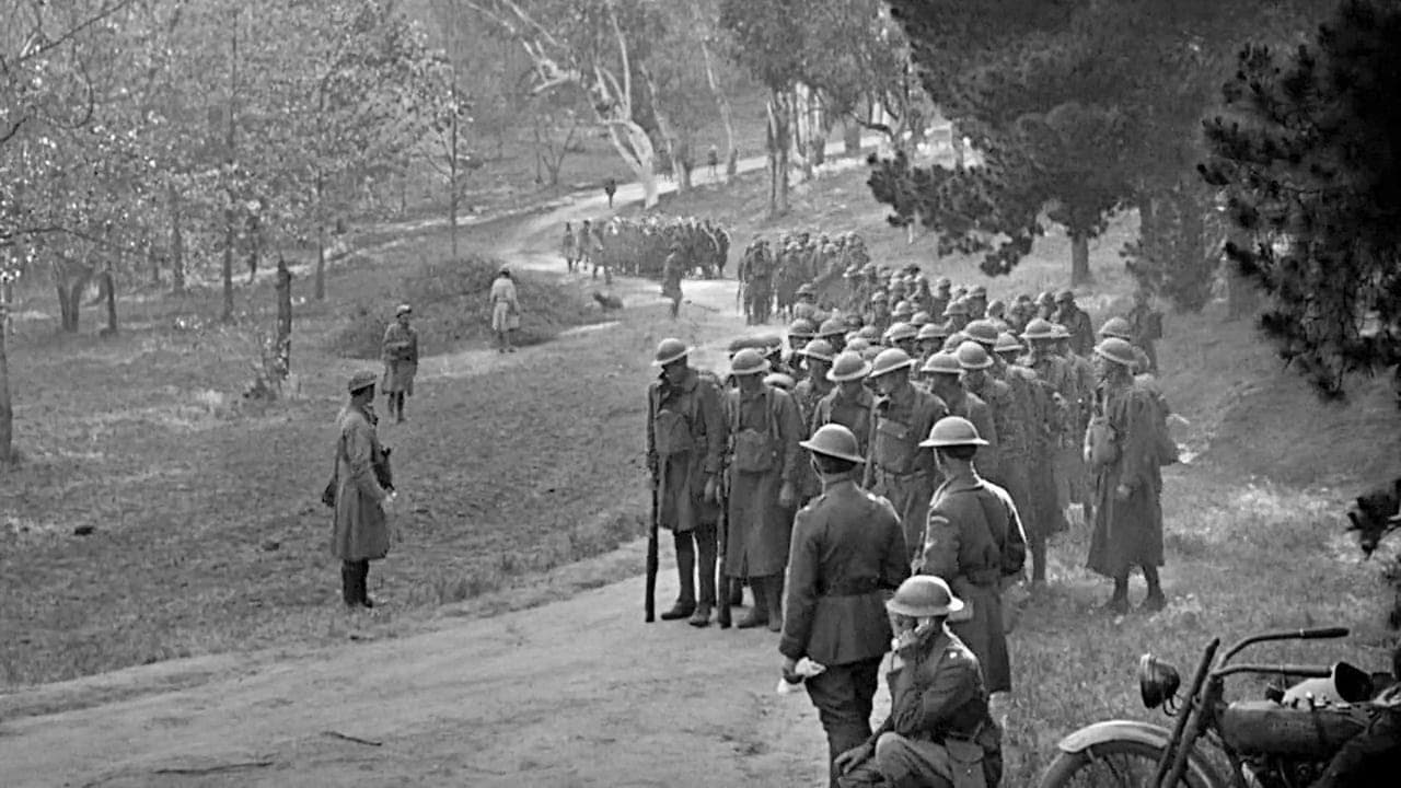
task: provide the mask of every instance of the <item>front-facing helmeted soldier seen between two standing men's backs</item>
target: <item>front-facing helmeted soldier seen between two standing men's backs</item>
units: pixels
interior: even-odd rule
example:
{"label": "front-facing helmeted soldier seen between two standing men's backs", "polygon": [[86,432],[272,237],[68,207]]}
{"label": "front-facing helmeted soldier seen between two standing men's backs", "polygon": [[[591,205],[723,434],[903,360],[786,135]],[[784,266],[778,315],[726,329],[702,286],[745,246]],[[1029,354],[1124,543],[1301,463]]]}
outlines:
{"label": "front-facing helmeted soldier seen between two standing men's backs", "polygon": [[895,505],[911,551],[925,541],[925,513],[934,492],[934,457],[919,442],[948,414],[943,400],[911,383],[913,365],[898,348],[881,351],[871,365],[870,380],[880,398],[866,463],[866,488]]}

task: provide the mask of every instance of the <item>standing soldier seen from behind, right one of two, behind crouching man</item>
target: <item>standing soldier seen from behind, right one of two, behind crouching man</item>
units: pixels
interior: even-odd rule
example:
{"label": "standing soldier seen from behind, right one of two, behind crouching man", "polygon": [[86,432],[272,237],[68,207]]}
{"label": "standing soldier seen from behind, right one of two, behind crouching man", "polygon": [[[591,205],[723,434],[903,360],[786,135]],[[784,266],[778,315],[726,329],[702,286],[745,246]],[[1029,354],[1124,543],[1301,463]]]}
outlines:
{"label": "standing soldier seen from behind, right one of two, behind crouching man", "polygon": [[1012,690],[1012,662],[1002,621],[1002,586],[1021,575],[1027,538],[1012,496],[982,480],[974,457],[986,442],[972,422],[940,419],[922,446],[934,449],[944,482],[929,503],[919,571],[944,578],[969,603],[953,624],[958,639],[978,655],[989,693]]}

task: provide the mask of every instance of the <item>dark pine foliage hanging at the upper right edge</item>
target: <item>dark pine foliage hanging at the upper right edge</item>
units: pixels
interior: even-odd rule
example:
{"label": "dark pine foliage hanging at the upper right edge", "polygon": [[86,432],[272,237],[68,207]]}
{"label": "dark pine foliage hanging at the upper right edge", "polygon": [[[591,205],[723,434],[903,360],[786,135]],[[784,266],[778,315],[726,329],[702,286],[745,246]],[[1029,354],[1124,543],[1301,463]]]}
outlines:
{"label": "dark pine foliage hanging at the upper right edge", "polygon": [[1344,0],[1314,41],[1245,46],[1205,125],[1205,182],[1252,238],[1226,254],[1259,328],[1328,400],[1401,362],[1401,10]]}

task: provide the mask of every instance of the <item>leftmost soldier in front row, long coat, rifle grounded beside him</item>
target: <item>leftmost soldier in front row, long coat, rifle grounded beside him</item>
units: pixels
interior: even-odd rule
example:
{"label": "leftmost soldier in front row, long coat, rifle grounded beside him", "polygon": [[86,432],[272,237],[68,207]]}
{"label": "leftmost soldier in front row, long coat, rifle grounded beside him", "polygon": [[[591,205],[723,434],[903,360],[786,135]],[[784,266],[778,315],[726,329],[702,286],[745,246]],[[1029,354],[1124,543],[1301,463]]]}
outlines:
{"label": "leftmost soldier in front row, long coat, rifle grounded beside him", "polygon": [[[661,374],[647,387],[647,468],[657,485],[657,526],[671,531],[681,595],[663,621],[710,623],[715,606],[716,523],[727,425],[720,387],[688,363],[681,339],[663,339],[653,365]],[[700,597],[696,599],[696,552]]]}

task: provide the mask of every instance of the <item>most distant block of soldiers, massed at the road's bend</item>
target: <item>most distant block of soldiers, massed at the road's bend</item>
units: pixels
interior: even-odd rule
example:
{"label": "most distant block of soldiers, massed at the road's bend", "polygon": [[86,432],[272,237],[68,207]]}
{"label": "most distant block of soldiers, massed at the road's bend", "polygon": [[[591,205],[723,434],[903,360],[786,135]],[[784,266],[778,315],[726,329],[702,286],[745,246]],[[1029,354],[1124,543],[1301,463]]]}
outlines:
{"label": "most distant block of soldiers, massed at the road's bend", "polygon": [[566,222],[560,240],[567,271],[591,268],[597,279],[602,269],[609,282],[614,272],[663,278],[667,257],[674,252],[684,259],[685,275],[723,276],[730,255],[730,233],[710,219],[693,216],[615,216],[602,224],[584,219],[576,227]]}

